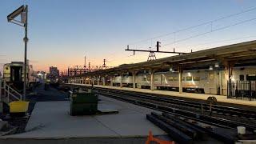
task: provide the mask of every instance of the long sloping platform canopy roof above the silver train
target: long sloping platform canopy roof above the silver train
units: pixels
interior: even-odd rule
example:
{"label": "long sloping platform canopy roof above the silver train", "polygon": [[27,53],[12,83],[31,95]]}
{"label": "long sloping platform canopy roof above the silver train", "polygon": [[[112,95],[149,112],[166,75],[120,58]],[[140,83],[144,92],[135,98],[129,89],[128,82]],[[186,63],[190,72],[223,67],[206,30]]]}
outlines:
{"label": "long sloping platform canopy roof above the silver train", "polygon": [[123,64],[107,70],[97,70],[73,77],[90,76],[94,74],[115,74],[120,72],[131,72],[139,70],[169,70],[182,67],[183,70],[197,70],[214,66],[226,67],[230,62],[235,66],[256,65],[256,40],[242,42],[228,46],[219,46],[207,50],[199,50],[192,53],[175,55],[167,58],[159,58],[150,62],[138,62],[134,64]]}

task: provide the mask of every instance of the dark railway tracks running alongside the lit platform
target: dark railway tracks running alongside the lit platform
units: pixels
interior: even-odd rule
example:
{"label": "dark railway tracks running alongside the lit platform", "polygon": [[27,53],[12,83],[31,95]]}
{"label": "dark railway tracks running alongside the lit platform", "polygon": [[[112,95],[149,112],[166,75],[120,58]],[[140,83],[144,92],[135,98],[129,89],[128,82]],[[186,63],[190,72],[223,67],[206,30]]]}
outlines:
{"label": "dark railway tracks running alongside the lit platform", "polygon": [[[241,122],[237,120],[230,120],[226,118],[219,118],[216,116],[209,116],[206,112],[204,114],[198,113],[192,109],[190,110],[182,110],[179,108],[175,108],[173,105],[182,105],[189,106],[195,109],[200,109],[203,107],[205,111],[208,111],[207,104],[197,103],[197,102],[187,102],[185,100],[179,100],[174,98],[159,98],[158,96],[150,95],[150,94],[138,94],[137,92],[123,91],[123,90],[110,90],[106,88],[94,88],[94,90],[103,96],[115,98],[118,100],[122,100],[125,102],[134,103],[135,105],[148,107],[150,109],[159,110],[162,112],[166,112],[168,114],[174,114],[177,116],[181,116],[183,118],[194,119],[198,122],[204,122],[210,124],[212,126],[218,126],[222,128],[230,128],[236,129],[237,126],[245,126],[247,130],[256,130],[256,126],[250,122]],[[170,105],[168,105],[170,104]],[[222,110],[225,109],[225,110]],[[226,112],[228,117],[236,117],[240,116],[242,118],[255,118],[255,112],[251,110],[243,110],[234,107],[228,106],[218,106],[214,105],[214,111],[217,111],[218,114],[223,114]],[[251,112],[251,114],[246,114],[246,112]]]}

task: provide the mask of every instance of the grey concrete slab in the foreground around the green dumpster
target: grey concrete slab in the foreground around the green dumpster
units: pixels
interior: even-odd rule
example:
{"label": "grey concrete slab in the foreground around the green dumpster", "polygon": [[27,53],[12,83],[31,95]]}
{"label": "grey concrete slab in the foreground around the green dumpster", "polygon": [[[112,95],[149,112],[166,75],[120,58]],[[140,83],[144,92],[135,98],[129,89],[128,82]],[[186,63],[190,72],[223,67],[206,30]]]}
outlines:
{"label": "grey concrete slab in the foreground around the green dumpster", "polygon": [[58,138],[139,138],[152,130],[154,135],[164,131],[146,120],[150,109],[99,97],[99,108],[116,109],[118,114],[70,116],[69,102],[37,102],[26,126],[26,133],[0,139],[58,139]]}

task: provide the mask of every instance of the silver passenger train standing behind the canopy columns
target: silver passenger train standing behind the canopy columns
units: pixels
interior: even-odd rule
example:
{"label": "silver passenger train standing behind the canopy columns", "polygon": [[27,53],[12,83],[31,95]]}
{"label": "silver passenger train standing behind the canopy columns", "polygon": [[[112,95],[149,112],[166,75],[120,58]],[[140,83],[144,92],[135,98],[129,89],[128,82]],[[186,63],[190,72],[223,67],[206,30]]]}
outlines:
{"label": "silver passenger train standing behind the canopy columns", "polygon": [[[137,74],[137,88],[150,89],[150,74]],[[120,76],[113,78],[113,86],[120,86]],[[228,70],[186,70],[182,73],[182,88],[186,92],[201,94],[227,94]],[[231,76],[236,90],[256,90],[256,67],[234,67]],[[249,85],[250,82],[250,85]],[[122,77],[122,86],[132,87],[133,78],[127,74]],[[235,87],[234,87],[235,86]],[[178,72],[158,72],[154,74],[154,89],[178,91]]]}

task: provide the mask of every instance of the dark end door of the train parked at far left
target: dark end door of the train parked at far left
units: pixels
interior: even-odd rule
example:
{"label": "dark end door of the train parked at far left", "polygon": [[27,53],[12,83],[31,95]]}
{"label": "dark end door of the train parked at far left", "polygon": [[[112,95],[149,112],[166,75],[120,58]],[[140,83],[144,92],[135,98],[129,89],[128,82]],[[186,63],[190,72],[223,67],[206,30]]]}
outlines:
{"label": "dark end door of the train parked at far left", "polygon": [[22,82],[22,66],[10,66],[10,81]]}

